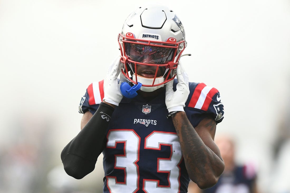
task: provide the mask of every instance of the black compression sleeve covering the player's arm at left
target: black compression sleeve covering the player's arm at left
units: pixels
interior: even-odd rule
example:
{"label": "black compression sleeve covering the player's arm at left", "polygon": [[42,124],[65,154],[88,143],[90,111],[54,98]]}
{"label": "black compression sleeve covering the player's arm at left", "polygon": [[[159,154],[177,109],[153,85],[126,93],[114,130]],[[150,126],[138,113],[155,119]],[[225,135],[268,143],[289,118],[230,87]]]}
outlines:
{"label": "black compression sleeve covering the player's arm at left", "polygon": [[100,103],[99,108],[84,128],[61,152],[64,170],[81,179],[95,169],[98,156],[105,147],[105,134],[114,108]]}

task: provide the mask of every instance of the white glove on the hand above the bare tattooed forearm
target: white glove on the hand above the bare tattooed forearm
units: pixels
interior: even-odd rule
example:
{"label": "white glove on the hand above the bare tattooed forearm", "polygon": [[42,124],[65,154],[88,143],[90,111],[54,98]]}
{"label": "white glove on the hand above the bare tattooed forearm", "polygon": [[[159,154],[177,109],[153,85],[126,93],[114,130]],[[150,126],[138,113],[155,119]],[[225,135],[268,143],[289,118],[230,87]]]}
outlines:
{"label": "white glove on the hand above the bare tattooed forearm", "polygon": [[186,72],[184,72],[180,61],[176,69],[176,74],[178,81],[176,91],[173,91],[173,81],[166,84],[165,104],[168,112],[184,111],[183,108],[189,95],[189,78]]}

